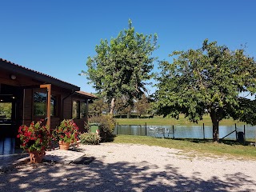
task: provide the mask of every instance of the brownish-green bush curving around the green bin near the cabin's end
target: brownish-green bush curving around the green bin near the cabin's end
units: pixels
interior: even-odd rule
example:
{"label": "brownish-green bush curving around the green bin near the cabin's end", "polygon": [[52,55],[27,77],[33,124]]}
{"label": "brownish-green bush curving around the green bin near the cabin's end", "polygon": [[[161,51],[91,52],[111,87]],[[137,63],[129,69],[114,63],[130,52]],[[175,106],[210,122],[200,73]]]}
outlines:
{"label": "brownish-green bush curving around the green bin near the cabin's end", "polygon": [[103,142],[106,142],[109,138],[113,136],[115,120],[112,116],[110,115],[94,116],[89,118],[88,122],[89,123],[95,122],[101,125],[100,136]]}

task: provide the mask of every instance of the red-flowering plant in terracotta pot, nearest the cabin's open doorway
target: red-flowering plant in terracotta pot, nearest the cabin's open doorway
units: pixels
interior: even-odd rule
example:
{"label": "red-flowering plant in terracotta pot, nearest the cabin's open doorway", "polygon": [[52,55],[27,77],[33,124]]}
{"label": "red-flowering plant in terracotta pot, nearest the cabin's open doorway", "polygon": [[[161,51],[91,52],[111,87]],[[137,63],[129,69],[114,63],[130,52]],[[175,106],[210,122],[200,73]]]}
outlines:
{"label": "red-flowering plant in terracotta pot, nearest the cabin's open doorway", "polygon": [[30,153],[30,162],[42,162],[46,150],[50,149],[52,135],[49,131],[47,126],[42,126],[42,121],[19,127],[17,138],[21,140],[22,149]]}

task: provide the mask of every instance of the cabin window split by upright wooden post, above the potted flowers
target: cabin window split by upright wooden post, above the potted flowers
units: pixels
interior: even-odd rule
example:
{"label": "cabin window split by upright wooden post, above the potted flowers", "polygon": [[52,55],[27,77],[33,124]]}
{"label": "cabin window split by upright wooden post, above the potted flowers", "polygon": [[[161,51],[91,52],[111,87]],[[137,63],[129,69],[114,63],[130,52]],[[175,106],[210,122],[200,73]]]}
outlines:
{"label": "cabin window split by upright wooden post, above the potted flowers", "polygon": [[[34,116],[47,115],[47,94],[42,92],[34,92]],[[50,115],[57,116],[57,97],[50,97]]]}

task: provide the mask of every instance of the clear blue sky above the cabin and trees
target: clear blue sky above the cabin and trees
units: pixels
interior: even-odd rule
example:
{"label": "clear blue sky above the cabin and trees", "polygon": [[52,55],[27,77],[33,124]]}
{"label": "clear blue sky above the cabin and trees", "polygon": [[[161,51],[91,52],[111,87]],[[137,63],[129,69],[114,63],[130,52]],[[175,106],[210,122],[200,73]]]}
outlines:
{"label": "clear blue sky above the cabin and trees", "polygon": [[[138,33],[158,34],[159,60],[198,49],[204,39],[256,56],[254,0],[0,0],[0,58],[94,92],[86,58],[101,38],[115,38],[128,19]],[[155,70],[158,63],[155,62]],[[154,88],[150,91],[154,92]]]}

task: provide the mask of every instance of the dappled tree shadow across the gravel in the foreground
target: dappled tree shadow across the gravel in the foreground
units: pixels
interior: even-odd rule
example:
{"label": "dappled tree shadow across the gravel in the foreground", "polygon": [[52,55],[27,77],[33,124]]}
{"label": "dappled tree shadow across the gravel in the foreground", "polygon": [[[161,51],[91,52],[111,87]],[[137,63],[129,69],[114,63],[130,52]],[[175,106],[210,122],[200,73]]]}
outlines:
{"label": "dappled tree shadow across the gravel in the foreground", "polygon": [[[24,165],[0,174],[0,191],[254,191],[256,182],[242,173],[208,180],[194,172],[186,177],[177,167],[148,162],[104,164],[97,159],[90,165],[43,163]],[[254,188],[254,189],[253,189]]]}

